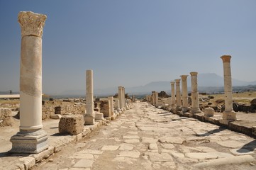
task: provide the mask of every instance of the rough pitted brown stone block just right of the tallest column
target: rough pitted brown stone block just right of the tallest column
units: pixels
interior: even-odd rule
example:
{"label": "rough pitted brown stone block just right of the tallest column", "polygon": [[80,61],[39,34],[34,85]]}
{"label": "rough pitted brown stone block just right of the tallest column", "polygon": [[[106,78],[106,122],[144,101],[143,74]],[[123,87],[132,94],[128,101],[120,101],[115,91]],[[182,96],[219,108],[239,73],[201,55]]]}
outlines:
{"label": "rough pitted brown stone block just right of the tallest column", "polygon": [[60,118],[59,132],[77,135],[84,130],[83,115],[64,115]]}

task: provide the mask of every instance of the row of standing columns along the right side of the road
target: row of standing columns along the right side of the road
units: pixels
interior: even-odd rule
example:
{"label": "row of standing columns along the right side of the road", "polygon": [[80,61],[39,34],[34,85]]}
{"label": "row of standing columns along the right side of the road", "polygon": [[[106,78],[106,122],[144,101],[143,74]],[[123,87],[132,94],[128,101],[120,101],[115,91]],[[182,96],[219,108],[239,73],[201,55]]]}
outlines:
{"label": "row of standing columns along the right side of the road", "polygon": [[[225,93],[225,111],[223,112],[222,123],[236,120],[236,113],[233,111],[233,98],[232,98],[232,78],[230,69],[230,55],[221,56],[223,61],[223,76],[224,76],[224,93]],[[201,113],[199,108],[199,92],[197,85],[197,72],[190,72],[191,75],[191,107],[190,113]],[[187,77],[188,75],[181,75],[182,79],[182,98],[180,91],[180,79],[171,81],[171,108],[174,113],[182,111],[183,113],[189,111],[188,91],[187,91]],[[176,98],[175,98],[176,96]],[[157,106],[158,95],[156,91],[152,91],[151,96],[147,96],[147,101],[154,106]]]}

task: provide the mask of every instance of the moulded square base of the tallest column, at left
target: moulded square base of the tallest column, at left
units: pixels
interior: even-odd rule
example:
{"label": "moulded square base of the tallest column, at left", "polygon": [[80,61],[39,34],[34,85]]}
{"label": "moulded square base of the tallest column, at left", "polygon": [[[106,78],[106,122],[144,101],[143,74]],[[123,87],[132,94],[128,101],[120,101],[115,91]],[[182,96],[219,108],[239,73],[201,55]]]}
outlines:
{"label": "moulded square base of the tallest column, at left", "polygon": [[45,130],[21,130],[10,139],[12,142],[11,153],[38,154],[48,149],[48,135]]}

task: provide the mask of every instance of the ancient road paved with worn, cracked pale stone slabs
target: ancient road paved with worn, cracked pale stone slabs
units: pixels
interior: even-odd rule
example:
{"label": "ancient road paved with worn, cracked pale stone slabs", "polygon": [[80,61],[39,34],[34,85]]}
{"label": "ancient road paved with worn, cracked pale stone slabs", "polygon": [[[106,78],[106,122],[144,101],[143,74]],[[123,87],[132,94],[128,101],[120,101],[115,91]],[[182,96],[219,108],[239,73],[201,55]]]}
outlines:
{"label": "ancient road paved with worn, cracked pale stone slabs", "polygon": [[134,103],[33,169],[256,169],[256,140]]}

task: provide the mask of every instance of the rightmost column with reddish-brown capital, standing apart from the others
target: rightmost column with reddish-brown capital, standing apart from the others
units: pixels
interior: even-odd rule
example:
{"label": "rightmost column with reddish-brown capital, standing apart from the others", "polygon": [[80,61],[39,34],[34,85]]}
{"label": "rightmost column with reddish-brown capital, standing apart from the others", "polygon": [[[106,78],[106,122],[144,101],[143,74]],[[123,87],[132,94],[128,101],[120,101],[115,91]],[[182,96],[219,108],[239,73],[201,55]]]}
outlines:
{"label": "rightmost column with reddish-brown capital, standing apart from the others", "polygon": [[223,55],[224,70],[224,91],[225,91],[225,111],[223,112],[223,120],[228,123],[229,121],[236,120],[236,113],[233,111],[233,98],[232,98],[232,78],[230,68],[230,55]]}

